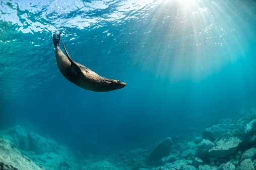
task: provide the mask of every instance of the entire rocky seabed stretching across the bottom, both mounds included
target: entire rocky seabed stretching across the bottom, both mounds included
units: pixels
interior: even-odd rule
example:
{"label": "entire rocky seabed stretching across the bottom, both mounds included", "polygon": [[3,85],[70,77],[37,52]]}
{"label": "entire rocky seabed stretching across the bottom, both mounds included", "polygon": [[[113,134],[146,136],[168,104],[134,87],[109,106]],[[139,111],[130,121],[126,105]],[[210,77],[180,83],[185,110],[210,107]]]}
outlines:
{"label": "entire rocky seabed stretching across the bottom, both mounds included", "polygon": [[167,137],[152,149],[111,152],[96,159],[74,154],[49,136],[27,133],[16,126],[0,132],[0,169],[253,170],[256,109],[235,120],[219,120],[189,137],[176,138],[179,141],[173,142]]}

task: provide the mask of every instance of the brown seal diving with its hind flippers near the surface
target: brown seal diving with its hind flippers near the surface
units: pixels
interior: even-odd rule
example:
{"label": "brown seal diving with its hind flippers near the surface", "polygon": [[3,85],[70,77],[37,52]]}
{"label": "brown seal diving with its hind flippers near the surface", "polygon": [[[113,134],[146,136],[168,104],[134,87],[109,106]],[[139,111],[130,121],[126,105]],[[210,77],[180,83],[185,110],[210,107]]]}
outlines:
{"label": "brown seal diving with its hind flippers near the surface", "polygon": [[126,83],[119,80],[113,80],[101,77],[87,67],[73,61],[68,54],[66,47],[62,41],[65,54],[59,48],[60,32],[53,34],[53,44],[55,47],[55,58],[60,73],[70,82],[77,86],[95,92],[107,92],[123,88]]}

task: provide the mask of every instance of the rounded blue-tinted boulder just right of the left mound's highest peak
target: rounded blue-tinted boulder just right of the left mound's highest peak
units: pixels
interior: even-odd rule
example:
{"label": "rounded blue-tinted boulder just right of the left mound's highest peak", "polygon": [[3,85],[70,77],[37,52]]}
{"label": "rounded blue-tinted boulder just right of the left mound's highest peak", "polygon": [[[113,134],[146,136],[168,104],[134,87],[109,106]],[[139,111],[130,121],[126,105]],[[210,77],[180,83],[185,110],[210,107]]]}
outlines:
{"label": "rounded blue-tinted boulder just right of the left mound's highest peak", "polygon": [[30,149],[37,154],[43,154],[45,152],[54,152],[53,147],[41,136],[36,133],[28,133]]}

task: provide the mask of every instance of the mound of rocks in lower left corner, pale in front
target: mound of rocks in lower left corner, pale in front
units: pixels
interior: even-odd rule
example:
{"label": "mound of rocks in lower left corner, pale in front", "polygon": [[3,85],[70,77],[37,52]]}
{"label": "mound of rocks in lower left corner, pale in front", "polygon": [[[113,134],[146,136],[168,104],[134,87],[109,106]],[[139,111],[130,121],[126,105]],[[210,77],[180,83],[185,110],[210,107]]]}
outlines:
{"label": "mound of rocks in lower left corner, pale in front", "polygon": [[78,169],[76,156],[49,136],[28,133],[19,125],[1,131],[1,136],[2,169]]}

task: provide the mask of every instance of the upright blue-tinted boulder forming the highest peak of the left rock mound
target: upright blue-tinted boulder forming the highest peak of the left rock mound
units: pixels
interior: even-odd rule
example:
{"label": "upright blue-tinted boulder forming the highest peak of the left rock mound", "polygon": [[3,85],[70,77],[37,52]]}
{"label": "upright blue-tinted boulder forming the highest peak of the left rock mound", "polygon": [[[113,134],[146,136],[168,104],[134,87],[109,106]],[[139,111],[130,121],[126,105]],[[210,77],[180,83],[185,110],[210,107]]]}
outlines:
{"label": "upright blue-tinted boulder forming the highest peak of the left rock mound", "polygon": [[9,130],[9,133],[13,136],[13,138],[17,141],[17,146],[22,150],[29,150],[29,140],[28,133],[25,129],[19,125]]}

